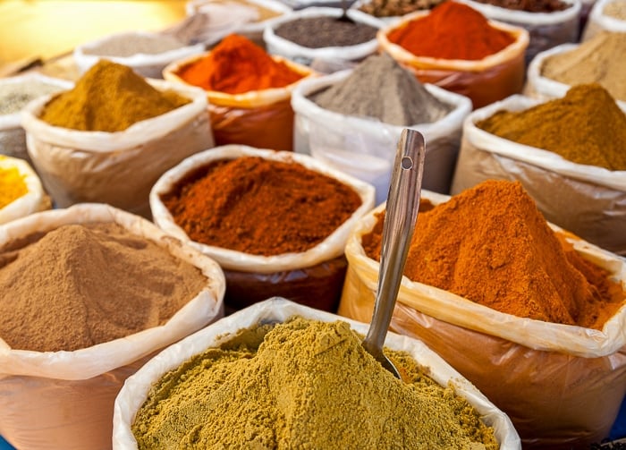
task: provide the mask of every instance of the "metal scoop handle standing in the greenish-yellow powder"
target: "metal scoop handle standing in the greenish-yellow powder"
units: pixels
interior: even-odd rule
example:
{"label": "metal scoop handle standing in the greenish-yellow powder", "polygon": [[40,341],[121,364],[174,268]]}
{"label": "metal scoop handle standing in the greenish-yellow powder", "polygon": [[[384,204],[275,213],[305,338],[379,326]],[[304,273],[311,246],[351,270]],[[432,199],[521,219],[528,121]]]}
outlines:
{"label": "metal scoop handle standing in the greenish-yellow powder", "polygon": [[387,195],[374,314],[368,335],[362,343],[365,350],[396,378],[401,378],[400,373],[385,356],[383,344],[400,290],[410,238],[418,218],[425,155],[426,145],[421,133],[402,130]]}

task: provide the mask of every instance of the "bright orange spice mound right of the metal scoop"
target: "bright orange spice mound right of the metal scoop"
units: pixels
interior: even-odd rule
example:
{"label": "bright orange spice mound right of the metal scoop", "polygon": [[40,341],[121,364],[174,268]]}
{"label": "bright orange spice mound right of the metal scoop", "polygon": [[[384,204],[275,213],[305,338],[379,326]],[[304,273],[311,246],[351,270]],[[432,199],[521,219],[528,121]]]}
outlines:
{"label": "bright orange spice mound right of the metal scoop", "polygon": [[[362,237],[371,259],[382,221]],[[588,328],[624,302],[622,285],[555,234],[519,182],[480,183],[420,213],[404,275],[520,318]]]}

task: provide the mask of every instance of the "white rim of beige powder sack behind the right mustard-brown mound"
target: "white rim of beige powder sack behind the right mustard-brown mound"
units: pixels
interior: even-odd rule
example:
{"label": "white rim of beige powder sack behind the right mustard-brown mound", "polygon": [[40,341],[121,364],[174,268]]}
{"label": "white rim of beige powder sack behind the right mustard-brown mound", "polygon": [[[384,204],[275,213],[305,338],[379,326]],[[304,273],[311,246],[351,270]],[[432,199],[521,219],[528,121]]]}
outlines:
{"label": "white rim of beige powder sack behind the right mustard-brown mound", "polygon": [[[543,76],[541,74],[542,68],[550,56],[570,52],[578,47],[579,44],[562,44],[536,55],[529,64],[524,95],[543,101],[565,97],[571,86]],[[626,111],[626,101],[617,100],[617,104],[622,108],[622,111]]]}

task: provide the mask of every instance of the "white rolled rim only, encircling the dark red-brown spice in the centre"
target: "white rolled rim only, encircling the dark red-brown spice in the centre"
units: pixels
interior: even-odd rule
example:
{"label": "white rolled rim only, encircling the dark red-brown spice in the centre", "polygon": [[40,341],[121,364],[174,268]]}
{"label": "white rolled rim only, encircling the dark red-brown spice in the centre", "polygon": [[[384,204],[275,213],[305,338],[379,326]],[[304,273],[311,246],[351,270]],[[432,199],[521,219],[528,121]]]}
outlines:
{"label": "white rolled rim only, encircling the dark red-brown spice in the centre", "polygon": [[[201,166],[205,166],[212,161],[220,159],[235,159],[238,157],[263,157],[269,160],[282,162],[296,162],[309,170],[316,171],[335,178],[336,180],[350,186],[356,191],[362,201],[360,207],[354,211],[352,216],[331,233],[323,242],[318,243],[312,249],[300,253],[284,253],[282,255],[262,256],[251,255],[241,251],[229,250],[214,247],[199,242],[190,241],[189,236],[173,220],[169,210],[160,199],[162,194],[172,190],[173,186],[186,174],[193,172]],[[353,225],[357,223],[361,216],[374,207],[374,188],[348,174],[333,169],[326,164],[306,155],[299,155],[293,152],[269,149],[253,149],[241,145],[226,145],[216,147],[186,158],[178,166],[167,171],[155,183],[150,191],[150,208],[154,222],[166,233],[189,242],[189,244],[202,251],[204,254],[215,259],[221,267],[241,272],[253,272],[259,274],[271,274],[283,270],[294,270],[304,267],[315,266],[330,259],[343,255],[343,247],[348,238]],[[302,217],[307,220],[307,217]]]}

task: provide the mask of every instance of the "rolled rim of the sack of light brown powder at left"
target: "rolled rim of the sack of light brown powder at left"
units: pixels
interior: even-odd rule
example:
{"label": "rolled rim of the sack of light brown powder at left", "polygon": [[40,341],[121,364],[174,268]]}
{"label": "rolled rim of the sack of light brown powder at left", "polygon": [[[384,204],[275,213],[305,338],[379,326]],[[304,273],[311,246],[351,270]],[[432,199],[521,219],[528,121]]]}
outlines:
{"label": "rolled rim of the sack of light brown powder at left", "polygon": [[114,222],[157,243],[174,257],[198,267],[207,276],[206,286],[164,325],[72,352],[13,350],[0,337],[0,378],[14,375],[65,380],[97,377],[173,344],[223,314],[225,277],[214,259],[173,238],[147,219],[110,205],[81,203],[13,220],[0,225],[0,245],[31,232],[50,232],[62,225],[93,222]]}

